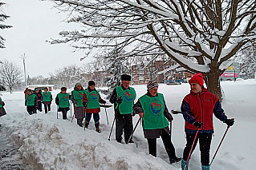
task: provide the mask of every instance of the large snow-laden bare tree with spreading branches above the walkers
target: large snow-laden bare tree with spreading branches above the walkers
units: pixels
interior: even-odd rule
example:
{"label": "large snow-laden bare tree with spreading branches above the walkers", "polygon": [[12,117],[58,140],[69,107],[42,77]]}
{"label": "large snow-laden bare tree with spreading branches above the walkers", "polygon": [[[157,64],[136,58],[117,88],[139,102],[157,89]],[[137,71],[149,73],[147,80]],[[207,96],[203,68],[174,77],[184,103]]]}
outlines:
{"label": "large snow-laden bare tree with spreading branches above the walkers", "polygon": [[55,43],[74,42],[103,52],[116,46],[126,56],[167,55],[192,73],[201,72],[221,97],[224,61],[256,38],[255,0],[51,0],[83,30],[62,31]]}

